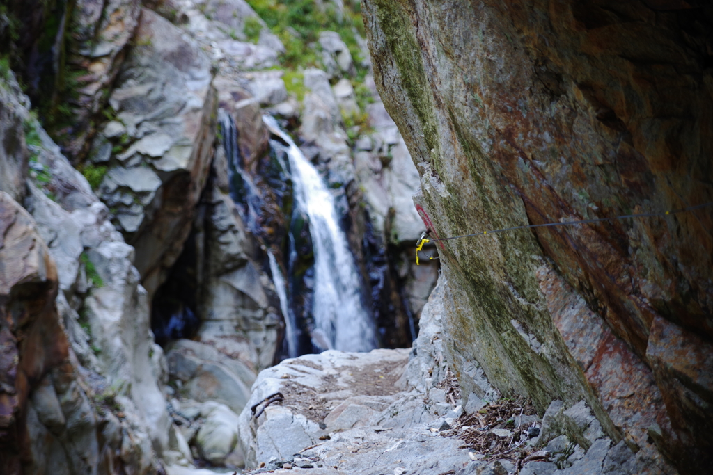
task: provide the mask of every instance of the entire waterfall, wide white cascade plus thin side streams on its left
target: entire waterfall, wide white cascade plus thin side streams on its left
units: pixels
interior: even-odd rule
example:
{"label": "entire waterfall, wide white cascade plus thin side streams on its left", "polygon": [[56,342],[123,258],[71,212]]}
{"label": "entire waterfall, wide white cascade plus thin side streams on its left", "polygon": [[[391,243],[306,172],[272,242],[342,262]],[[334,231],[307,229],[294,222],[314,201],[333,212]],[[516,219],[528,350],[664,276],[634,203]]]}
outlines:
{"label": "entire waterfall, wide white cascade plus thin side streams on its left", "polygon": [[[222,109],[219,110],[218,120],[228,161],[230,194],[248,228],[257,235],[260,232],[260,190],[255,187],[250,174],[243,169],[235,122]],[[306,214],[309,218],[309,234],[314,252],[314,296],[312,324],[308,326],[313,349],[369,351],[376,348],[374,323],[361,302],[359,274],[347,244],[347,236],[339,226],[334,197],[317,169],[302,155],[292,138],[280,130],[277,121],[268,115],[263,120],[272,134],[281,140],[272,140],[273,147],[282,149],[289,159],[288,164],[277,154],[282,169],[292,179],[295,202],[293,213]],[[294,244],[292,234],[289,234],[289,241]],[[290,253],[289,259],[294,261],[294,249]],[[286,281],[291,276],[285,278],[282,275],[272,252],[267,251],[267,256],[285,321],[287,354],[296,357],[300,353],[299,328],[304,328],[304,325],[299,325],[295,311],[289,306],[291,298]]]}

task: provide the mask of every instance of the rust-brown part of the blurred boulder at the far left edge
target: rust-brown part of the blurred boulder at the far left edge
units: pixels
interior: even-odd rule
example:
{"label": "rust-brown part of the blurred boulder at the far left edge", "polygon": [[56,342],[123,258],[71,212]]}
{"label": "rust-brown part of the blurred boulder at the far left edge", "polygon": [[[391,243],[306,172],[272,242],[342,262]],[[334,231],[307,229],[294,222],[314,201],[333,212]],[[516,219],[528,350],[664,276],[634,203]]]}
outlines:
{"label": "rust-brown part of the blurred boulder at the far left edge", "polygon": [[14,473],[28,448],[29,393],[68,354],[54,306],[57,271],[34,220],[0,192],[0,469]]}

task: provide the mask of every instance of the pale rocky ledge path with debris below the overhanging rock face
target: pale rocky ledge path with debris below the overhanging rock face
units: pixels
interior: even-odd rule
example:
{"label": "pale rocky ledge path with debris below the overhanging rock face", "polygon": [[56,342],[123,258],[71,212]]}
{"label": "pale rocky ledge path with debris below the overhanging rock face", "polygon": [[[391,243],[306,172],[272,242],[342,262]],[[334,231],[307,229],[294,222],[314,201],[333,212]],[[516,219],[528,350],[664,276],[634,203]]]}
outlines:
{"label": "pale rocky ledge path with debris below the overhanging rock face", "polygon": [[463,401],[443,354],[442,298],[439,281],[410,350],[330,350],[262,371],[240,414],[247,473],[662,473],[605,437],[583,401],[555,400],[542,419],[491,388]]}

